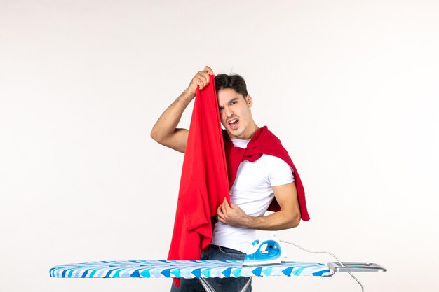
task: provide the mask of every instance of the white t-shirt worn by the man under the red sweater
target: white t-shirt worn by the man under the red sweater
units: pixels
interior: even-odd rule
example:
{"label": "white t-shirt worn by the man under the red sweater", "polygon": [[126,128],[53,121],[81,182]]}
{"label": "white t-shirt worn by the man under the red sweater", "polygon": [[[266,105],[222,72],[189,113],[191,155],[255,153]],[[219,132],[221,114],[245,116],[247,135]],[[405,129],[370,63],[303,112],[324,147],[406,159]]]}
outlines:
{"label": "white t-shirt worn by the man under the red sweater", "polygon": [[[234,146],[245,148],[250,142],[231,139]],[[263,216],[273,200],[272,186],[282,186],[295,181],[292,169],[281,158],[262,154],[255,162],[244,160],[238,167],[230,200],[245,211],[248,216]],[[239,228],[217,222],[212,244],[248,253],[254,240],[255,230]]]}

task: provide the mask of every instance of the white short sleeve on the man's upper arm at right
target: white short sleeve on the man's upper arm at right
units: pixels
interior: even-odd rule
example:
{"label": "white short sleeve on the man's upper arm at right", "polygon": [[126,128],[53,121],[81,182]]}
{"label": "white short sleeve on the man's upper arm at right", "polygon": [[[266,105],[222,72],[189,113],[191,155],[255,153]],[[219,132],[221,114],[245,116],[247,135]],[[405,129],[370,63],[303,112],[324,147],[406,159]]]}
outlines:
{"label": "white short sleeve on the man's upper arm at right", "polygon": [[295,181],[293,170],[287,162],[273,155],[264,156],[270,186],[282,186]]}

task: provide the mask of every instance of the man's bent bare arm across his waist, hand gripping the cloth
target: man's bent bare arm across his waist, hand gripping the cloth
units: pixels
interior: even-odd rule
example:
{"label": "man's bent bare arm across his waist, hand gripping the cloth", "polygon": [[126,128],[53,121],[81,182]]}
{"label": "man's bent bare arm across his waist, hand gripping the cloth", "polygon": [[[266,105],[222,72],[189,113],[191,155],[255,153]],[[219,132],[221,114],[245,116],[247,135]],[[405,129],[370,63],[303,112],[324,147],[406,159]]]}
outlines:
{"label": "man's bent bare arm across his waist, hand gripping the cloth", "polygon": [[300,223],[300,208],[294,182],[273,186],[273,193],[281,207],[280,211],[262,217],[247,216],[235,204],[224,202],[218,207],[218,221],[232,226],[258,230],[283,230],[297,227]]}

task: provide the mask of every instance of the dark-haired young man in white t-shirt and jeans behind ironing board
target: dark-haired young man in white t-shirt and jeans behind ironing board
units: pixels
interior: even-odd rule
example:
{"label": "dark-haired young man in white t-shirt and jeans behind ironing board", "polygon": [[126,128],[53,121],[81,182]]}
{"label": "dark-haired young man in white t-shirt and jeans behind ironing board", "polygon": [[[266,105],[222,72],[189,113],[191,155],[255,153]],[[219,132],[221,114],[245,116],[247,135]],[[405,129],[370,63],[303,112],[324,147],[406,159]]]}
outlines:
{"label": "dark-haired young man in white t-shirt and jeans behind ironing board", "polygon": [[[194,99],[197,86],[203,89],[209,83],[209,74],[213,75],[213,72],[207,66],[198,71],[188,88],[163,112],[151,131],[154,140],[184,153],[189,131],[177,128],[177,125],[184,109]],[[259,129],[253,120],[252,97],[241,76],[219,74],[215,76],[215,86],[221,123],[228,136],[224,137],[225,145],[229,141],[231,148],[246,148],[255,133],[259,137],[262,130],[268,131],[266,127]],[[275,155],[262,154],[255,161],[240,162],[230,189],[231,204],[224,200],[218,206],[212,244],[201,259],[243,260],[254,240],[255,230],[283,230],[299,225],[301,209],[293,172],[285,160]],[[273,198],[280,209],[264,216]],[[204,291],[198,279],[181,280],[180,288],[173,286],[171,291]],[[243,277],[210,279],[218,292],[240,291],[244,281]],[[247,291],[251,291],[251,286]]]}

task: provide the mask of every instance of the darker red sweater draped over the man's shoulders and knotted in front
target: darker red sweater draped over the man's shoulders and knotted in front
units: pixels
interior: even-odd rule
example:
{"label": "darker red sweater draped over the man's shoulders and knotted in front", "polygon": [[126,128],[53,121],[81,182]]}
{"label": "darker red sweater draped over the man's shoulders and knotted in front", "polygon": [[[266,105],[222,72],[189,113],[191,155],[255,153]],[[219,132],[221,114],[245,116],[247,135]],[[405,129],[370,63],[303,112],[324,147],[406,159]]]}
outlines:
{"label": "darker red sweater draped over the man's shoulders and knotted in front", "polygon": [[[302,185],[302,180],[300,179],[299,173],[295,165],[292,163],[290,155],[281,144],[281,140],[278,139],[269,129],[264,126],[259,128],[255,134],[253,134],[252,139],[247,144],[247,148],[234,147],[229,135],[225,130],[223,130],[224,137],[224,148],[226,151],[227,158],[227,171],[229,174],[229,188],[234,185],[236,179],[236,173],[238,172],[238,167],[243,162],[243,160],[248,160],[250,162],[259,159],[262,154],[273,155],[281,158],[285,161],[292,170],[294,170],[295,183],[297,188],[297,198],[299,199],[299,207],[301,212],[301,218],[303,221],[309,221],[308,210],[306,209],[305,200],[305,190]],[[269,206],[269,211],[279,211],[279,207],[276,198],[271,202]]]}

